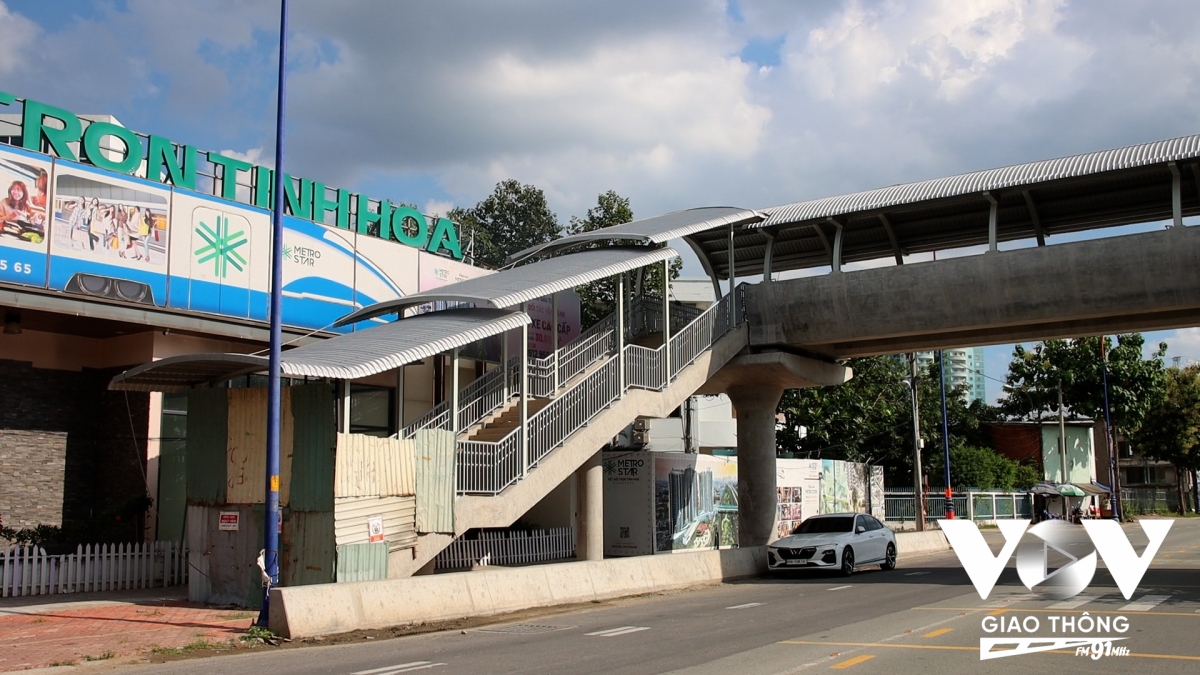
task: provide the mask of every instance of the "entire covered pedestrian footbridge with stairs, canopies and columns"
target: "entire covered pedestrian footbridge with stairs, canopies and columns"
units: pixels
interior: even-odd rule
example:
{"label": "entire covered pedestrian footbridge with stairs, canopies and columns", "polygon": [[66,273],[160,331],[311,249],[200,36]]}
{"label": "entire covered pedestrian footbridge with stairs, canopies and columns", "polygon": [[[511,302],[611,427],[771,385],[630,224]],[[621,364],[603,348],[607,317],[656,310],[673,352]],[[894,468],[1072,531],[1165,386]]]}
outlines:
{"label": "entire covered pedestrian footbridge with stairs, canopies and columns", "polygon": [[[490,335],[523,334],[528,300],[613,279],[612,316],[545,359],[505,353],[466,387],[455,377],[450,400],[400,432],[457,437],[458,496],[455,532],[421,534],[390,574],[412,574],[469,528],[511,525],[572,476],[583,497],[580,555],[601,557],[599,450],[637,417],[665,417],[696,393],[725,392],[737,408],[739,539],[757,545],[775,515],[785,389],[842,383],[851,374],[836,359],[852,356],[1195,325],[1200,228],[1183,223],[1195,214],[1200,136],[769,209],[690,209],[564,237],[494,275],[365,307],[343,321],[403,318],[288,351],[281,368],[350,382],[436,353],[457,358]],[[1159,220],[1170,227],[1051,241]],[[666,270],[677,256],[672,240],[713,280],[719,301],[704,312],[642,287],[647,268]],[[1031,245],[1009,247],[1018,240]],[[905,259],[964,246],[984,251]],[[889,267],[850,269],[881,259]],[[780,279],[803,270],[818,274]],[[460,307],[404,317],[431,301]],[[112,387],[178,392],[265,368],[260,357],[192,354],[132,369]]]}

